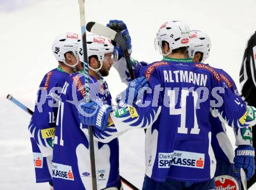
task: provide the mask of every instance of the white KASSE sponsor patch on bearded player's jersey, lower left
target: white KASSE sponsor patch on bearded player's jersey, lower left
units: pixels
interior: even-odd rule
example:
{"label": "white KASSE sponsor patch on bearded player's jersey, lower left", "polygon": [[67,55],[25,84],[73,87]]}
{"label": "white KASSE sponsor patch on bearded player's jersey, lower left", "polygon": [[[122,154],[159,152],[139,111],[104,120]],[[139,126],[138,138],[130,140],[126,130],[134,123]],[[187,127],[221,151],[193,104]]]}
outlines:
{"label": "white KASSE sponsor patch on bearded player's jersey, lower left", "polygon": [[52,177],[74,181],[72,167],[60,163],[52,163]]}

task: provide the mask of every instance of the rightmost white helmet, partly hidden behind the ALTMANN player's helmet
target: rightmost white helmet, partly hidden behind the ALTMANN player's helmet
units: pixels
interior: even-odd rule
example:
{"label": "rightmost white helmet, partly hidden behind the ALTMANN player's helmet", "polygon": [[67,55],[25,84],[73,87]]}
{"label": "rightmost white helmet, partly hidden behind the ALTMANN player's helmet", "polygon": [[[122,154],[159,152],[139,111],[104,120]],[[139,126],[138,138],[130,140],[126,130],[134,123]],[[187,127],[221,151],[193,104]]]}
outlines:
{"label": "rightmost white helmet, partly hidden behind the ALTMANN player's helmet", "polygon": [[201,52],[202,61],[204,62],[208,57],[211,49],[211,39],[207,34],[199,30],[190,31],[190,47],[189,57],[194,58],[196,52]]}

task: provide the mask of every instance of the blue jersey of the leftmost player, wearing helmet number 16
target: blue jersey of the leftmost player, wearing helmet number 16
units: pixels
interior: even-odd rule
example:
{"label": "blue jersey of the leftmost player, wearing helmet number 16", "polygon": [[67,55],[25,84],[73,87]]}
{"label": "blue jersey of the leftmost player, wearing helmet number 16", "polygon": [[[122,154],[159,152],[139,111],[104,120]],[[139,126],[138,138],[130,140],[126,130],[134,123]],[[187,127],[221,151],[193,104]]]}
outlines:
{"label": "blue jersey of the leftmost player, wearing helmet number 16", "polygon": [[69,74],[60,67],[45,74],[40,84],[29,131],[36,182],[51,181],[52,137],[55,133],[59,94]]}

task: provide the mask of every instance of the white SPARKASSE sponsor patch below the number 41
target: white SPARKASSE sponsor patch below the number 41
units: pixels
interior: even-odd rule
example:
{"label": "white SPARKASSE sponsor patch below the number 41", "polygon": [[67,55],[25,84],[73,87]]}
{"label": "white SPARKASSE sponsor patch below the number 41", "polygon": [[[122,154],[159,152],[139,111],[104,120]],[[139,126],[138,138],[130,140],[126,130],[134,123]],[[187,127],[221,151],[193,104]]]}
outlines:
{"label": "white SPARKASSE sponsor patch below the number 41", "polygon": [[158,154],[158,167],[169,168],[173,166],[204,168],[204,154],[186,151],[174,151],[173,153]]}

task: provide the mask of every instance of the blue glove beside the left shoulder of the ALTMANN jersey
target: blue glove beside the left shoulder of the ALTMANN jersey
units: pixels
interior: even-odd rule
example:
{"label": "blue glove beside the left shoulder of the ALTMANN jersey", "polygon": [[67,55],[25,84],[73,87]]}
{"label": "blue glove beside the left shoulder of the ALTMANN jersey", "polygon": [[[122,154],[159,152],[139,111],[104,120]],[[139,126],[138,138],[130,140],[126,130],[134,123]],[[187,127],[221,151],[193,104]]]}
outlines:
{"label": "blue glove beside the left shoulder of the ALTMANN jersey", "polygon": [[133,106],[137,100],[141,99],[145,88],[148,87],[147,79],[144,76],[131,81],[128,87],[116,98],[116,102],[121,107]]}

